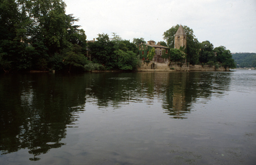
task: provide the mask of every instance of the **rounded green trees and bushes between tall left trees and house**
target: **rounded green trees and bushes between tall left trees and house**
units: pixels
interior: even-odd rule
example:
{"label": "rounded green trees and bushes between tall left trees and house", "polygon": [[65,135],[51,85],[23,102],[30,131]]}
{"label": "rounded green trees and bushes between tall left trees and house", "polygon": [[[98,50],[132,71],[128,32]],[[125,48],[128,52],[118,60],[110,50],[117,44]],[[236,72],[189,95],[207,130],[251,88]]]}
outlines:
{"label": "rounded green trees and bushes between tall left trees and house", "polygon": [[97,41],[89,42],[88,48],[94,63],[102,64],[107,70],[134,70],[139,64],[137,48],[134,43],[123,40],[113,33],[109,39],[108,34],[98,34]]}

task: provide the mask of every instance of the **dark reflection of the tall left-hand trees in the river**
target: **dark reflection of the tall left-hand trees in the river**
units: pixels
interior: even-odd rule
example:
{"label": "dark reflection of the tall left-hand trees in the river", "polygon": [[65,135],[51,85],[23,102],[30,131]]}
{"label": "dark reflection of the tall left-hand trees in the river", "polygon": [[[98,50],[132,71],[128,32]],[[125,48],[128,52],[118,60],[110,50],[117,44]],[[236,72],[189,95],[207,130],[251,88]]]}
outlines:
{"label": "dark reflection of the tall left-hand trees in the river", "polygon": [[[77,120],[85,104],[79,76],[54,74],[4,76],[0,81],[0,150],[2,154],[27,148],[31,161],[59,148],[66,127]],[[78,84],[79,83],[79,84]],[[4,90],[3,90],[4,89]],[[79,107],[79,105],[83,105]]]}

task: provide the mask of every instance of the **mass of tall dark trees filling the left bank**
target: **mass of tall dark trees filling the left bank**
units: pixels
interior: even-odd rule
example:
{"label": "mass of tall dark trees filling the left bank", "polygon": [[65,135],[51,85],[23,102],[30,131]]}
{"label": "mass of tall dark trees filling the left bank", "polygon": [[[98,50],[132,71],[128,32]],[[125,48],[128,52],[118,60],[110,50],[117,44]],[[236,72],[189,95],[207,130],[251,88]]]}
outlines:
{"label": "mass of tall dark trees filling the left bank", "polygon": [[[69,61],[73,66],[84,63],[85,32],[73,25],[78,19],[66,15],[65,7],[63,0],[1,0],[2,70],[60,70],[67,66],[61,64],[66,53],[81,57]],[[56,58],[57,55],[62,59]]]}

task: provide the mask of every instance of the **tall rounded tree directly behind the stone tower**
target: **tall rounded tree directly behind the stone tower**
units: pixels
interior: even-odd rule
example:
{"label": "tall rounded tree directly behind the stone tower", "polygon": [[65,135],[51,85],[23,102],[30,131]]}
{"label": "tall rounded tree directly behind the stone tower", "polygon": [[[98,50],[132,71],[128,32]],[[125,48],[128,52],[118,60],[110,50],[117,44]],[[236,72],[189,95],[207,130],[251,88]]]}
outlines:
{"label": "tall rounded tree directly behind the stone tower", "polygon": [[[173,26],[163,34],[163,39],[167,41],[167,45],[170,48],[174,48],[174,35],[178,31],[180,25]],[[195,38],[193,34],[193,30],[190,29],[188,26],[183,26],[183,29],[187,35],[187,47],[185,49],[185,53],[187,54],[187,61],[190,62],[192,65],[198,63],[199,58],[199,42]]]}

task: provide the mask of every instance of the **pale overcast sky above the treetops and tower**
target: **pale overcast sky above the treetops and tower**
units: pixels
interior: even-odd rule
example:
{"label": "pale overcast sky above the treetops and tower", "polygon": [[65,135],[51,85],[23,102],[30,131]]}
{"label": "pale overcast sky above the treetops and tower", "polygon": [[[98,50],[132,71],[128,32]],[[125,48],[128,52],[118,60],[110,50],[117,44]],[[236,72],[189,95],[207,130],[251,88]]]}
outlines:
{"label": "pale overcast sky above the treetops and tower", "polygon": [[117,33],[122,39],[164,41],[177,24],[193,29],[199,42],[231,52],[256,53],[256,0],[64,0],[79,18],[87,40]]}

